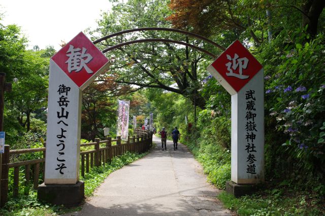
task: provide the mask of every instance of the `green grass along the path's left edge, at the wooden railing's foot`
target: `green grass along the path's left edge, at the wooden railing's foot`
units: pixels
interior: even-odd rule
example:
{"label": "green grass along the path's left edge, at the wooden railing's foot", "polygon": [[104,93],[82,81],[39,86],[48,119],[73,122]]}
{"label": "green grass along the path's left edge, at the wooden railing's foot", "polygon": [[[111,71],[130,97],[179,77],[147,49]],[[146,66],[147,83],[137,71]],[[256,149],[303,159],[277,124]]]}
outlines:
{"label": "green grass along the path's left edge, at the wooden railing's foot", "polygon": [[[81,177],[80,180],[85,182],[85,196],[89,197],[92,195],[93,191],[104,182],[105,178],[112,173],[113,171],[132,163],[139,158],[142,158],[147,153],[144,154],[135,154],[126,152],[119,157],[114,157],[111,163],[105,164],[102,167],[94,167],[89,170],[89,173],[85,173],[84,177]],[[32,187],[30,187],[32,188]],[[37,191],[32,189],[29,190],[29,195],[22,195],[24,187],[20,188],[20,197],[14,199],[9,198],[9,201],[6,205],[0,209],[0,215],[12,216],[12,215],[58,215],[68,212],[78,211],[81,209],[80,206],[67,208],[63,205],[51,205],[47,203],[42,203],[37,201]]]}

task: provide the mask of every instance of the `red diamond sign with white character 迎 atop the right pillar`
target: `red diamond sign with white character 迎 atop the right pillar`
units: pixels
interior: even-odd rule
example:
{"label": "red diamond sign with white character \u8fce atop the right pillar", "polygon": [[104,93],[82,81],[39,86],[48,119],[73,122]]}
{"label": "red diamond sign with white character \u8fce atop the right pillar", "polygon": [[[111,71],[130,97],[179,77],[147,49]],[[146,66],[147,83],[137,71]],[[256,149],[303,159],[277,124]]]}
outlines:
{"label": "red diamond sign with white character \u8fce atop the right pillar", "polygon": [[254,56],[239,41],[235,41],[207,69],[233,95],[262,68]]}

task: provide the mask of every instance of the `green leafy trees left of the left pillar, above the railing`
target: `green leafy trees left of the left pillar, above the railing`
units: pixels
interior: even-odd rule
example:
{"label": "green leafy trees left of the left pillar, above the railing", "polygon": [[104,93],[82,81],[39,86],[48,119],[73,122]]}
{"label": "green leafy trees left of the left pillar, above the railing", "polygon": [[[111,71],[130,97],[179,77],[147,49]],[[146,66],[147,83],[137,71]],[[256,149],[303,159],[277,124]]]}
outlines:
{"label": "green leafy trees left of the left pillar, above the railing", "polygon": [[0,24],[0,70],[7,82],[17,78],[5,95],[4,115],[6,138],[15,148],[26,148],[45,133],[44,122],[33,117],[38,113],[46,120],[40,114],[46,110],[49,59],[41,56],[43,50],[26,50],[26,42],[18,26]]}

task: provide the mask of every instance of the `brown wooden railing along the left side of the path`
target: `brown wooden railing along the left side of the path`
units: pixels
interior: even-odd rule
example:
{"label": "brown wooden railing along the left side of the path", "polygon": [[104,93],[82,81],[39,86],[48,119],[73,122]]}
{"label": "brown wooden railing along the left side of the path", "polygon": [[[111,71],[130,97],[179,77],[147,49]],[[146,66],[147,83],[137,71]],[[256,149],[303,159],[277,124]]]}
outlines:
{"label": "brown wooden railing along the left side of the path", "polygon": [[[146,130],[134,130],[134,135],[132,137],[128,136],[126,141],[122,143],[121,137],[117,136],[115,139],[112,137],[107,137],[106,140],[95,139],[94,142],[81,143],[80,147],[89,147],[93,146],[93,150],[81,151],[80,160],[81,160],[81,176],[85,175],[85,172],[89,172],[89,167],[93,166],[105,166],[105,163],[108,163],[112,160],[113,157],[122,155],[125,152],[135,152],[135,153],[144,153],[150,149],[152,146],[152,133]],[[44,143],[43,148],[35,149],[19,149],[19,150],[10,150],[8,145],[5,146],[5,153],[2,157],[2,173],[1,173],[1,203],[0,206],[8,201],[9,194],[9,171],[10,168],[14,169],[14,181],[12,187],[13,197],[18,197],[19,195],[19,169],[21,166],[25,166],[25,188],[24,193],[27,195],[29,191],[29,182],[32,175],[32,181],[34,189],[37,189],[40,183],[44,182],[45,176],[45,151],[46,143]],[[10,157],[14,155],[29,154],[35,152],[43,152],[43,158],[25,160],[19,162],[10,163]],[[41,179],[40,179],[41,172]]]}

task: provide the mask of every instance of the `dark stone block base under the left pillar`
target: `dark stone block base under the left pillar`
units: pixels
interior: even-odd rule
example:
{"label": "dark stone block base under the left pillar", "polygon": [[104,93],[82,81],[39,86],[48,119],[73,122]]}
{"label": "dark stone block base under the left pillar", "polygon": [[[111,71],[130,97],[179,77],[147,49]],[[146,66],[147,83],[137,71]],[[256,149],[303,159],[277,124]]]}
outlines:
{"label": "dark stone block base under the left pillar", "polygon": [[75,185],[40,185],[37,199],[55,205],[73,206],[79,204],[85,196],[85,184],[82,181]]}

